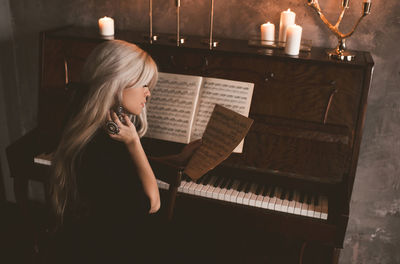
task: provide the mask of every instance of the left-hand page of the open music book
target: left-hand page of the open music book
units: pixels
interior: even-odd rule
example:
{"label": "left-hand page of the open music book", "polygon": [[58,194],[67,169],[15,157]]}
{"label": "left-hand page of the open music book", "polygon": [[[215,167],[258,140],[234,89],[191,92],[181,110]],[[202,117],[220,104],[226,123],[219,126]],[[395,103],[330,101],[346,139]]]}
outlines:
{"label": "left-hand page of the open music book", "polygon": [[202,77],[159,73],[147,106],[147,137],[189,143]]}

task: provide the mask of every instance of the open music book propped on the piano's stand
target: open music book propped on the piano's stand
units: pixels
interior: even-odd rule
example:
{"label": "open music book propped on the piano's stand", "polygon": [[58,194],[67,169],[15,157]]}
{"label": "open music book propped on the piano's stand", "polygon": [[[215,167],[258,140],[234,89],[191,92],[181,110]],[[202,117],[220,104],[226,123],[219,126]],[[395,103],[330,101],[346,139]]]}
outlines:
{"label": "open music book propped on the piano's stand", "polygon": [[[146,137],[189,143],[203,136],[216,104],[248,116],[254,83],[159,73],[147,105]],[[234,152],[242,152],[243,141]]]}

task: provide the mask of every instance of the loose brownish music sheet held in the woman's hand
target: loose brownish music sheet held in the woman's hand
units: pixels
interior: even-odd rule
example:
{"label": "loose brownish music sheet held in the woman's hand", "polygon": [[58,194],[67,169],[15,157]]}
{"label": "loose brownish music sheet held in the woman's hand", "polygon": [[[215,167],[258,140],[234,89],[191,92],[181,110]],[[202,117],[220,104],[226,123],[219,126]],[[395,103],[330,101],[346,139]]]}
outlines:
{"label": "loose brownish music sheet held in the woman's hand", "polygon": [[202,144],[184,172],[193,180],[224,161],[244,138],[253,120],[216,105],[204,132]]}

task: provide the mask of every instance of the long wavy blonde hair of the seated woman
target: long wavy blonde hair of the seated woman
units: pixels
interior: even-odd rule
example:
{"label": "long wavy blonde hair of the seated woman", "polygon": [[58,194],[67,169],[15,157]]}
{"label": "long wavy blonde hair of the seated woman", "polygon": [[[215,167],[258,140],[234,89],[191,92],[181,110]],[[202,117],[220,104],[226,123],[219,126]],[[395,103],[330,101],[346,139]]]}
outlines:
{"label": "long wavy blonde hair of the seated woman", "polygon": [[[74,206],[79,196],[76,163],[82,149],[107,121],[107,113],[122,102],[123,89],[157,82],[157,66],[145,51],[134,44],[112,40],[97,46],[86,60],[82,79],[88,96],[82,109],[68,123],[52,162],[51,197],[57,220]],[[146,108],[136,118],[139,136],[147,130]]]}

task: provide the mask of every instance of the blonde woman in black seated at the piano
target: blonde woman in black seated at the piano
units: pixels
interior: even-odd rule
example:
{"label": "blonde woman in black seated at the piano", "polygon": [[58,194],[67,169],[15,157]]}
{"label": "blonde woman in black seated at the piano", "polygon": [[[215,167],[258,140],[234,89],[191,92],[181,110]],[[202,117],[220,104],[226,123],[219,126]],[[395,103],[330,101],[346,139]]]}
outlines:
{"label": "blonde woman in black seated at the piano", "polygon": [[[160,208],[156,179],[140,143],[157,66],[136,45],[108,41],[89,55],[83,81],[88,95],[53,161],[52,201],[63,224],[56,252],[66,263],[143,261],[155,242],[148,214]],[[135,124],[128,114],[119,119],[113,111],[119,107],[136,117]],[[165,160],[184,165],[198,145]]]}

